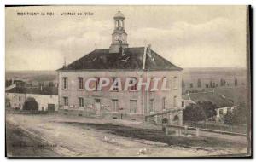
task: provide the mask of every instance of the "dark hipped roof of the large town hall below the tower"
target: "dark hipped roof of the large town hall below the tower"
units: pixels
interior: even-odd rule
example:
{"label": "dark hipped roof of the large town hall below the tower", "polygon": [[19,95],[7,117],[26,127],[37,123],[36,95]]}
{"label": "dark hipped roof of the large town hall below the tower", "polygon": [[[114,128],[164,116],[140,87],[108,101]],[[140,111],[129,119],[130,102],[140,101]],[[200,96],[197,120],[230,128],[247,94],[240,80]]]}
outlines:
{"label": "dark hipped roof of the large town hall below the tower", "polygon": [[[95,49],[77,61],[58,70],[139,70],[143,69],[144,47],[125,48],[121,53],[109,53],[109,49]],[[151,50],[151,58],[146,56],[145,70],[182,70],[182,68],[166,61]]]}

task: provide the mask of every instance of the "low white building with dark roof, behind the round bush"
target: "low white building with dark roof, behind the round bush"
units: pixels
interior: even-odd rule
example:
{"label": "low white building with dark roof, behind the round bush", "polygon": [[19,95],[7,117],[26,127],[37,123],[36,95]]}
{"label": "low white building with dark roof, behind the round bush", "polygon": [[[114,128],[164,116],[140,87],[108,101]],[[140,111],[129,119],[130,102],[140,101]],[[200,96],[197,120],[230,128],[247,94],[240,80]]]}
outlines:
{"label": "low white building with dark roof, behind the round bush", "polygon": [[6,107],[23,109],[28,98],[38,102],[38,111],[58,111],[58,89],[56,87],[26,87],[12,84],[5,90]]}

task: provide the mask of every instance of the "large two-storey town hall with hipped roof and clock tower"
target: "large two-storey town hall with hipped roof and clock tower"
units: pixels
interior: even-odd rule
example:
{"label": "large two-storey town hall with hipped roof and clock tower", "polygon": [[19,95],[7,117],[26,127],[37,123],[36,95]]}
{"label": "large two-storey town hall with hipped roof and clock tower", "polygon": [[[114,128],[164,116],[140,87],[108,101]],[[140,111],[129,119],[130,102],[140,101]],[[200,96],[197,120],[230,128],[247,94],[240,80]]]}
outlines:
{"label": "large two-storey town hall with hipped roof and clock tower", "polygon": [[[169,112],[164,114],[169,123],[175,119],[182,124],[182,68],[158,55],[150,45],[129,47],[124,14],[119,11],[113,20],[109,49],[95,49],[58,69],[60,110],[79,116],[129,120],[143,120],[149,114]],[[110,84],[117,86],[116,80],[120,79],[120,86],[124,87],[125,78],[134,78],[135,84],[129,90],[107,90],[109,87],[85,90],[86,80],[96,78],[91,86],[97,88],[102,77],[109,78]],[[137,90],[140,78],[143,81],[161,78],[160,83],[166,80],[169,90]]]}

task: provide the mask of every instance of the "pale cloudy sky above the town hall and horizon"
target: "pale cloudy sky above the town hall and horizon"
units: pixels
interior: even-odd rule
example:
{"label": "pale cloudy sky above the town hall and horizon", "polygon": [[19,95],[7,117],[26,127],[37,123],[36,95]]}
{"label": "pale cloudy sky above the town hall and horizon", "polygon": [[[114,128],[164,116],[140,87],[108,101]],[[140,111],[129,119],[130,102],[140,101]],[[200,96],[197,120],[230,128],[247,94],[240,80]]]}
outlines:
{"label": "pale cloudy sky above the town hall and horizon", "polygon": [[[108,49],[119,10],[129,47],[150,43],[183,68],[246,67],[245,6],[38,6],[5,9],[6,70],[56,70]],[[17,14],[27,12],[39,14]]]}

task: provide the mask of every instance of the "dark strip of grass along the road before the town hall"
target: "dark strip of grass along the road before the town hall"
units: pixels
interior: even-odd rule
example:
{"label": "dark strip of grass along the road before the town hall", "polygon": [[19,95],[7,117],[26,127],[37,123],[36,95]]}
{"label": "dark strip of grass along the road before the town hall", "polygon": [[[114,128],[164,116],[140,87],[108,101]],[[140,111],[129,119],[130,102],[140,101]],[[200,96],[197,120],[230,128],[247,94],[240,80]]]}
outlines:
{"label": "dark strip of grass along the road before the town hall", "polygon": [[62,122],[62,123],[72,124],[74,126],[80,126],[83,129],[88,129],[88,127],[90,127],[95,130],[103,130],[118,136],[125,136],[125,137],[131,137],[135,139],[143,139],[143,140],[155,141],[155,142],[163,142],[168,144],[169,146],[174,145],[174,146],[180,146],[185,148],[242,147],[241,144],[236,144],[233,142],[225,142],[225,141],[221,141],[211,137],[166,136],[165,133],[161,130],[133,128],[133,127],[119,125],[119,124],[91,124],[91,123],[78,123],[78,122]]}

